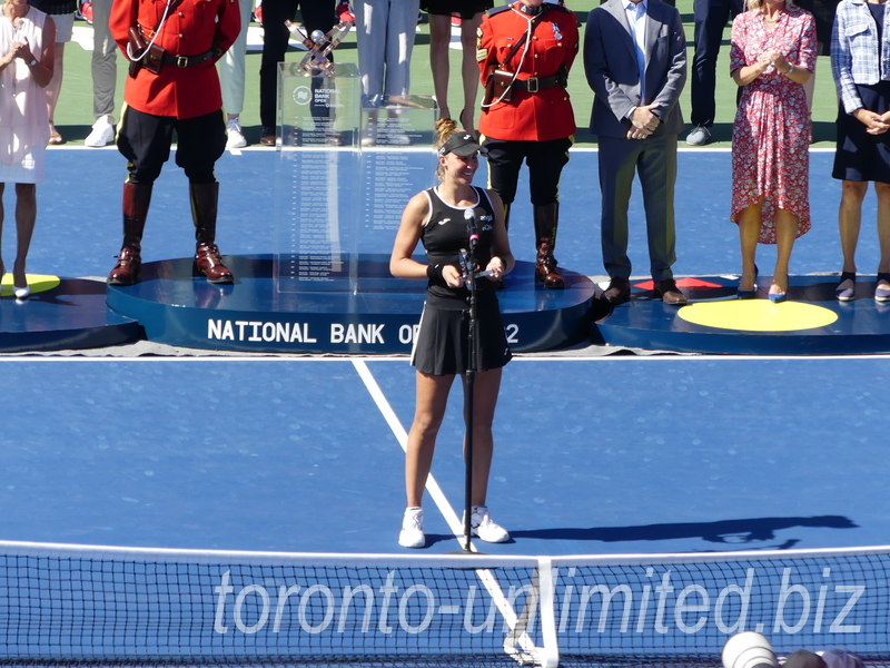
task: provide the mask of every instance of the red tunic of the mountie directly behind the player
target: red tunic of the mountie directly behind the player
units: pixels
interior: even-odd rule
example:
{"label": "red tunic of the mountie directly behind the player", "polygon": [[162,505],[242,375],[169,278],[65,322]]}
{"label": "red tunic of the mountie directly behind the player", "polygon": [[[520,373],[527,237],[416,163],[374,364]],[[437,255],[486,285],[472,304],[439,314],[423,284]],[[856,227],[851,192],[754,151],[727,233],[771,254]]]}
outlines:
{"label": "red tunic of the mountie directly behind the player", "polygon": [[[508,63],[507,57],[515,40],[528,30],[528,20],[534,18],[516,7],[498,8],[487,12],[478,30],[476,60],[485,86],[488,66],[502,63],[507,70],[518,69],[518,80],[532,77],[545,78],[555,75],[561,67],[566,71],[577,56],[577,22],[570,10],[545,4],[544,16],[535,18],[528,51],[523,61],[525,45],[516,50]],[[520,68],[520,66],[522,67]],[[483,108],[479,131],[492,139],[512,141],[550,141],[564,139],[575,132],[575,114],[568,91],[554,86],[538,92],[513,90],[510,102],[498,102]]]}

